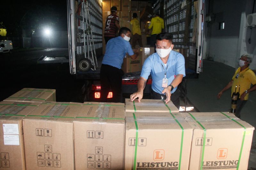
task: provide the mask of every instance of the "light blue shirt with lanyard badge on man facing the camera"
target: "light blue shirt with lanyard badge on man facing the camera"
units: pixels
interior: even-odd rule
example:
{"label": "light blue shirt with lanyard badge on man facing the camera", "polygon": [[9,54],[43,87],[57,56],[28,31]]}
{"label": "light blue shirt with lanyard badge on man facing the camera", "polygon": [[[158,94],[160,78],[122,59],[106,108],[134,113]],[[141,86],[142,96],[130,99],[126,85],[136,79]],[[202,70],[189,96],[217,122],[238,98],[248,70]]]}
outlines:
{"label": "light blue shirt with lanyard badge on man facing the camera", "polygon": [[[162,80],[164,78],[165,71],[166,78],[168,79],[168,85],[172,83],[173,79],[178,74],[182,74],[183,77],[185,77],[185,59],[183,55],[175,51],[171,51],[165,66],[159,55],[154,53],[145,60],[140,76],[148,79],[148,76],[151,74],[152,90],[162,94],[162,91],[164,90],[164,87],[162,87]],[[175,87],[171,93],[174,93],[176,89],[177,87]]]}

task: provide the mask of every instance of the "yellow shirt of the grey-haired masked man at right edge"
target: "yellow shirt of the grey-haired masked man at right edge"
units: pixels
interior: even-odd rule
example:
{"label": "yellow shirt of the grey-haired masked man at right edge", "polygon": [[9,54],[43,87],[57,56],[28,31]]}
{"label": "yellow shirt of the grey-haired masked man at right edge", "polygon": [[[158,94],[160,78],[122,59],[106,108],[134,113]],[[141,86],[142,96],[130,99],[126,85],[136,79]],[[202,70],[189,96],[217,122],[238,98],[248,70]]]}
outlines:
{"label": "yellow shirt of the grey-haired masked man at right edge", "polygon": [[[241,67],[239,67],[236,70],[236,72],[232,78],[232,80],[234,82],[231,87],[231,97],[232,97],[233,92],[235,92],[235,89],[236,89],[236,92],[238,92],[239,85],[240,85],[240,96],[241,96],[244,91],[251,88],[251,84],[252,85],[256,84],[256,76],[255,76],[254,72],[251,69],[249,69],[249,67],[247,67],[246,69],[244,69],[241,72],[240,72],[240,70],[241,70]],[[236,85],[237,85],[237,87],[236,87]],[[239,96],[239,98],[240,98],[240,96]],[[246,96],[244,97],[244,100],[248,100],[248,97],[249,97],[249,95],[246,94]]]}

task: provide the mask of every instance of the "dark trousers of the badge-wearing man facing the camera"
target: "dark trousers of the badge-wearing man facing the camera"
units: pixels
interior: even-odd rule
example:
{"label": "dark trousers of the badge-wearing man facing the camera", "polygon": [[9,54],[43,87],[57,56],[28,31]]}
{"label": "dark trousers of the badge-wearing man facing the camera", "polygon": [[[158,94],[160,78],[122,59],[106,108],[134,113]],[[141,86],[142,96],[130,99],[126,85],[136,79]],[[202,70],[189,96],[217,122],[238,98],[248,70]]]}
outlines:
{"label": "dark trousers of the badge-wearing man facing the camera", "polygon": [[[163,94],[159,94],[151,89],[151,99],[162,99],[162,96],[164,97],[164,100],[166,99],[166,96]],[[172,103],[180,109],[180,90],[177,89],[174,93],[171,95],[171,101]]]}

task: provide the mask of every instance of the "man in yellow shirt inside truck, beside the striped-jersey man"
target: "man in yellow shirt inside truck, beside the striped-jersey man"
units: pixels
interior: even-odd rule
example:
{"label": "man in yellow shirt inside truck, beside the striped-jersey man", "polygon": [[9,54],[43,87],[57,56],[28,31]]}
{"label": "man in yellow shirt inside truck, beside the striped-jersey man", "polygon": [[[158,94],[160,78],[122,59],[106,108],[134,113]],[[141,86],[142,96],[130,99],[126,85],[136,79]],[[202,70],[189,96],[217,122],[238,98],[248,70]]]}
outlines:
{"label": "man in yellow shirt inside truck, beside the striped-jersey man", "polygon": [[140,30],[140,22],[137,19],[137,13],[132,14],[132,20],[130,24],[132,25],[132,48],[135,48],[135,44],[138,41],[140,47],[142,47],[142,38],[141,38],[141,30]]}

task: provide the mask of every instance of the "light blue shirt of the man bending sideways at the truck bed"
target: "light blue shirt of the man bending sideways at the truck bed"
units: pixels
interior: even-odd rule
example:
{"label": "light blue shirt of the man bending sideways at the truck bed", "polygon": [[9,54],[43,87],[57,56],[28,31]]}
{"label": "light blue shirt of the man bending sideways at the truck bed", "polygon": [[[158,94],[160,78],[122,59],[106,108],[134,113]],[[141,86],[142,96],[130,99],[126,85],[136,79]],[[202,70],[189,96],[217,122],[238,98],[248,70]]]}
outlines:
{"label": "light blue shirt of the man bending sideways at the truck bed", "polygon": [[121,36],[112,38],[107,43],[102,64],[108,64],[121,69],[126,53],[134,55],[130,42],[124,40]]}

